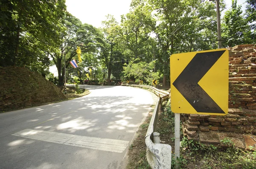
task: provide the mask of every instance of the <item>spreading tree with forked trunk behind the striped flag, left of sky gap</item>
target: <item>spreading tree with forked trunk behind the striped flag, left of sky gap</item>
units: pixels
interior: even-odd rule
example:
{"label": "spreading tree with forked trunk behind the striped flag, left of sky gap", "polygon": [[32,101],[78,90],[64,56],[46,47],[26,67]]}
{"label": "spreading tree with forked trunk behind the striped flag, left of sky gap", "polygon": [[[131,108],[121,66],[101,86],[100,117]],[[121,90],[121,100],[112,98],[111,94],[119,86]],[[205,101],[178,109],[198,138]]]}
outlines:
{"label": "spreading tree with forked trunk behind the striped flag, left of sky gap", "polygon": [[[66,14],[62,27],[65,29],[60,35],[63,40],[58,48],[53,48],[49,55],[51,56],[58,70],[59,84],[64,83],[64,64],[66,68],[70,65],[70,61],[76,56],[76,45],[83,42],[81,46],[82,55],[85,53],[95,53],[99,48],[102,40],[102,34],[99,29],[87,23],[82,24],[79,19]],[[66,62],[64,63],[64,59]]]}

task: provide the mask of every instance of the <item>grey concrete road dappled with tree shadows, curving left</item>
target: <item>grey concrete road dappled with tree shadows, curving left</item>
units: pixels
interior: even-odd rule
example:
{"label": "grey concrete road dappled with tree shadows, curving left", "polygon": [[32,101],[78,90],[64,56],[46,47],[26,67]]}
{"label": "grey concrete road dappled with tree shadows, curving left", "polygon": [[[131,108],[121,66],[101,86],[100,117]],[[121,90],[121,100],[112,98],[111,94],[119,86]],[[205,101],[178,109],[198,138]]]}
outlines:
{"label": "grey concrete road dappled with tree shadows, curving left", "polygon": [[122,169],[154,104],[146,90],[89,86],[82,98],[0,114],[0,169]]}

